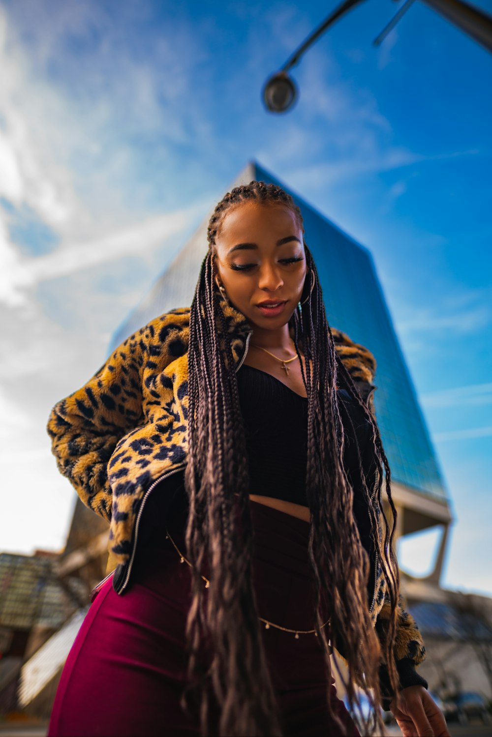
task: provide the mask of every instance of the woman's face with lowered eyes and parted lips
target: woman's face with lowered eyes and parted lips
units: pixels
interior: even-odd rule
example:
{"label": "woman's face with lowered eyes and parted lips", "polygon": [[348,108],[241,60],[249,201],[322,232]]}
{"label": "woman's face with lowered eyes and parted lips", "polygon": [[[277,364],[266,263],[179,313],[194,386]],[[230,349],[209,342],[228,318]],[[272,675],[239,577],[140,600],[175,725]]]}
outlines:
{"label": "woman's face with lowered eyes and parted lips", "polygon": [[[306,276],[302,229],[287,206],[235,206],[215,237],[216,268],[229,301],[252,324],[279,328],[297,307]],[[264,301],[284,302],[268,312]]]}

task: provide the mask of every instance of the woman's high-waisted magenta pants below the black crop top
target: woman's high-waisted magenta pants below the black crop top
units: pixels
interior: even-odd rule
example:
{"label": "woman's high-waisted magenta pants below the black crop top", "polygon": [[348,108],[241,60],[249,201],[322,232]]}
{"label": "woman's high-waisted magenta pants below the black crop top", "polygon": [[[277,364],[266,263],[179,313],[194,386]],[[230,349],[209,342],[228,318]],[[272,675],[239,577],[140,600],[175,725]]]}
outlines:
{"label": "woman's high-waisted magenta pants below the black crop top", "polygon": [[[309,523],[257,502],[251,506],[258,614],[289,629],[313,629]],[[184,552],[178,518],[171,517],[168,527]],[[129,590],[118,595],[108,579],[80,627],[58,685],[49,737],[200,735],[198,719],[179,705],[187,683],[190,567],[162,528],[154,526],[139,545]],[[262,636],[284,735],[340,734],[328,717],[330,687],[347,734],[360,737],[326,674],[319,639],[263,624]]]}

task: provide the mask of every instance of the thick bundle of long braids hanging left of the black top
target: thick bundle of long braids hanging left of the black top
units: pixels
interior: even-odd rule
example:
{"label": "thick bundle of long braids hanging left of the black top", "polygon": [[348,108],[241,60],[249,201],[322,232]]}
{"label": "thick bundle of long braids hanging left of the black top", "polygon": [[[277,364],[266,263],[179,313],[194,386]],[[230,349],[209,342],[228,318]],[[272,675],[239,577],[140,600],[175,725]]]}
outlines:
{"label": "thick bundle of long braids hanging left of the black top", "polygon": [[[190,514],[185,545],[193,565],[193,601],[186,627],[191,678],[182,705],[190,708],[190,696],[199,686],[204,734],[209,733],[214,699],[215,707],[220,705],[221,735],[281,735],[252,587],[253,528],[243,419],[238,386],[227,368],[234,362],[229,340],[224,340],[224,314],[212,290],[214,276],[209,254],[190,309],[190,460],[185,471]],[[240,525],[233,492],[239,494]],[[205,558],[211,581],[206,611],[199,573]],[[201,666],[203,642],[211,646],[208,668]],[[245,673],[255,677],[246,678]]]}

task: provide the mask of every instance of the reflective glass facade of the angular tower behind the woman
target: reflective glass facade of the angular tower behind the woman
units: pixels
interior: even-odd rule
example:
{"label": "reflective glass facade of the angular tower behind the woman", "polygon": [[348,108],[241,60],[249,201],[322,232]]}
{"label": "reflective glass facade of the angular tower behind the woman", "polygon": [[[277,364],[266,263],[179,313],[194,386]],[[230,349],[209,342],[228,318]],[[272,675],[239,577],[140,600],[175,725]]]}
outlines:
{"label": "reflective glass facade of the angular tower behind the woman", "polygon": [[[443,478],[373,257],[367,248],[344,234],[255,162],[246,166],[229,189],[248,184],[252,179],[278,184],[292,195],[304,217],[305,241],[316,262],[330,326],[346,332],[375,356],[374,405],[393,480],[445,501]],[[207,254],[208,220],[209,216],[117,330],[111,351],[162,312],[190,305],[200,265]]]}

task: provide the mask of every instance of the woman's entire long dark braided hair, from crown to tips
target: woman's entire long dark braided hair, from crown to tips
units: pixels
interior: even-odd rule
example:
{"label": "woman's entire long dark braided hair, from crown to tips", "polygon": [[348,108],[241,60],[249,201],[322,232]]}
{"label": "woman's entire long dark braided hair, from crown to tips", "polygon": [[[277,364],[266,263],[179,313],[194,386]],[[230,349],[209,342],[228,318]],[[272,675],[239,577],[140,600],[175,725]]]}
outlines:
{"label": "woman's entire long dark braided hair, from crown to tips", "polygon": [[[269,206],[287,206],[304,233],[302,214],[294,200],[279,186],[251,181],[228,192],[209,220],[209,251],[190,307],[188,349],[188,441],[184,483],[189,500],[185,545],[192,568],[192,604],[187,617],[188,674],[190,682],[181,697],[185,709],[198,708],[202,734],[209,734],[212,713],[218,715],[221,736],[281,736],[283,727],[263,649],[257,602],[252,586],[254,530],[249,507],[249,474],[245,430],[240,411],[232,346],[215,287],[215,237],[225,215],[247,200]],[[328,325],[316,266],[304,242],[308,267],[316,276],[305,305],[297,306],[289,327],[300,360],[305,355],[302,378],[308,396],[308,462],[306,495],[311,511],[309,559],[316,590],[316,634],[330,673],[330,647],[342,640],[347,677],[336,668],[351,706],[360,705],[359,685],[373,709],[363,718],[367,730],[383,733],[378,686],[381,655],[387,663],[395,691],[398,675],[393,647],[396,633],[398,565],[392,550],[396,511],[390,489],[390,470],[378,427],[347,368],[336,354]],[[309,282],[306,279],[306,282]],[[310,286],[308,283],[307,287]],[[305,290],[306,291],[306,290]],[[301,301],[305,298],[304,294]],[[312,371],[311,365],[312,362]],[[356,399],[373,427],[374,464],[379,471],[376,503],[367,489],[358,449],[360,486],[366,497],[373,529],[378,529],[378,506],[384,535],[375,534],[375,545],[387,581],[391,615],[381,646],[367,606],[369,558],[361,545],[353,517],[353,488],[342,463],[344,430],[336,386]],[[316,388],[318,387],[318,388]],[[392,528],[381,504],[382,468],[392,509]],[[238,494],[238,496],[235,496]],[[201,578],[204,561],[210,585]],[[324,627],[327,608],[330,624]],[[328,632],[327,632],[328,630]],[[381,652],[382,651],[382,652]],[[330,702],[327,709],[344,726]]]}

